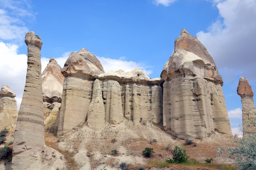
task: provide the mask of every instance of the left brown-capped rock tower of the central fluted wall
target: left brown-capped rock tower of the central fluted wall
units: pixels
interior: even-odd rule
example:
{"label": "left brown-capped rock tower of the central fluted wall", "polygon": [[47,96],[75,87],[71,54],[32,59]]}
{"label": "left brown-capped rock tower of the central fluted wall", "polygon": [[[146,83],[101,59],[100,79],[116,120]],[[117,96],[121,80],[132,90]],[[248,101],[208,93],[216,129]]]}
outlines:
{"label": "left brown-capped rock tower of the central fluted wall", "polygon": [[72,132],[72,128],[85,122],[92,100],[95,74],[104,73],[99,60],[86,49],[71,53],[64,64],[65,76],[57,136]]}

